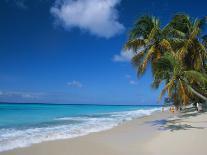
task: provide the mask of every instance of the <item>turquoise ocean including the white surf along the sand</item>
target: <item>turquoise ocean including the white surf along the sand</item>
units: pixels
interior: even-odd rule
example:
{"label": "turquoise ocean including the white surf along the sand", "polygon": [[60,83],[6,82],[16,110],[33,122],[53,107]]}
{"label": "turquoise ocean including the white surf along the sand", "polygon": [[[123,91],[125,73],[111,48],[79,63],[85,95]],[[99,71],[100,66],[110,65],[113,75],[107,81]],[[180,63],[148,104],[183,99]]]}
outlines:
{"label": "turquoise ocean including the white surf along the sand", "polygon": [[160,109],[141,105],[0,104],[0,152],[107,130]]}

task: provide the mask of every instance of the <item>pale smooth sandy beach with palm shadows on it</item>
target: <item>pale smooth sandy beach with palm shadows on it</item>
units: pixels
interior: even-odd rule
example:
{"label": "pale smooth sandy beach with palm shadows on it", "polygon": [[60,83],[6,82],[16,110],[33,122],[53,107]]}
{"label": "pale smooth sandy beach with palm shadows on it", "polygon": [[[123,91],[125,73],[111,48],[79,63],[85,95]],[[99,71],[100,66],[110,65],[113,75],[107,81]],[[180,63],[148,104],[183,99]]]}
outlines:
{"label": "pale smooth sandy beach with palm shadows on it", "polygon": [[33,144],[0,155],[204,155],[206,120],[206,113],[155,112],[106,131]]}

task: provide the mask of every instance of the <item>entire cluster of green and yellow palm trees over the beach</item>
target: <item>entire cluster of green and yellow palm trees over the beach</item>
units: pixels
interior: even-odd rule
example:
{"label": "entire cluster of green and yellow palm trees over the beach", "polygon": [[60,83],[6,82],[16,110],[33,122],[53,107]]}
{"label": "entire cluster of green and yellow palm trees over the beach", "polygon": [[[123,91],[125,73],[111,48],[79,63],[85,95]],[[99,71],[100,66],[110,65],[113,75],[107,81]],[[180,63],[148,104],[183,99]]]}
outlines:
{"label": "entire cluster of green and yellow palm trees over the beach", "polygon": [[162,26],[153,16],[140,17],[125,44],[132,50],[137,75],[152,70],[152,87],[163,86],[175,106],[207,102],[207,18],[176,14]]}

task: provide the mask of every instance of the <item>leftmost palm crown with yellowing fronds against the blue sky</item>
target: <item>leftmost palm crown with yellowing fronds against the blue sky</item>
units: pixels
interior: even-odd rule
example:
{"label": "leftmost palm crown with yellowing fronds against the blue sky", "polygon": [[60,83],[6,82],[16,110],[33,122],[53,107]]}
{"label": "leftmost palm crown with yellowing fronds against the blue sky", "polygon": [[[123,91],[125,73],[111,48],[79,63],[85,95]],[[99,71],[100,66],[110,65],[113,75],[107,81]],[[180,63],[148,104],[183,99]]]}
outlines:
{"label": "leftmost palm crown with yellowing fronds against the blue sky", "polygon": [[132,62],[138,75],[144,73],[149,62],[154,63],[162,55],[161,31],[159,19],[152,16],[142,16],[131,30],[125,49],[134,52]]}

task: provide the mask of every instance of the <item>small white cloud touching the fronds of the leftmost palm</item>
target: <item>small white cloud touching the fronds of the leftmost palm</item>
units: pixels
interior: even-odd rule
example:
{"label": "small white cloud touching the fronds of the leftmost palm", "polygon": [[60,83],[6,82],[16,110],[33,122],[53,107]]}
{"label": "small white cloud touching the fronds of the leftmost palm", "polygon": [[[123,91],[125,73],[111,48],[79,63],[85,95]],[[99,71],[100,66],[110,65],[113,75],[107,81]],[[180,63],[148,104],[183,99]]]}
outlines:
{"label": "small white cloud touching the fronds of the leftmost palm", "polygon": [[113,61],[115,61],[115,62],[129,62],[134,55],[135,55],[135,53],[132,50],[128,50],[128,51],[122,50],[120,54],[114,55]]}

